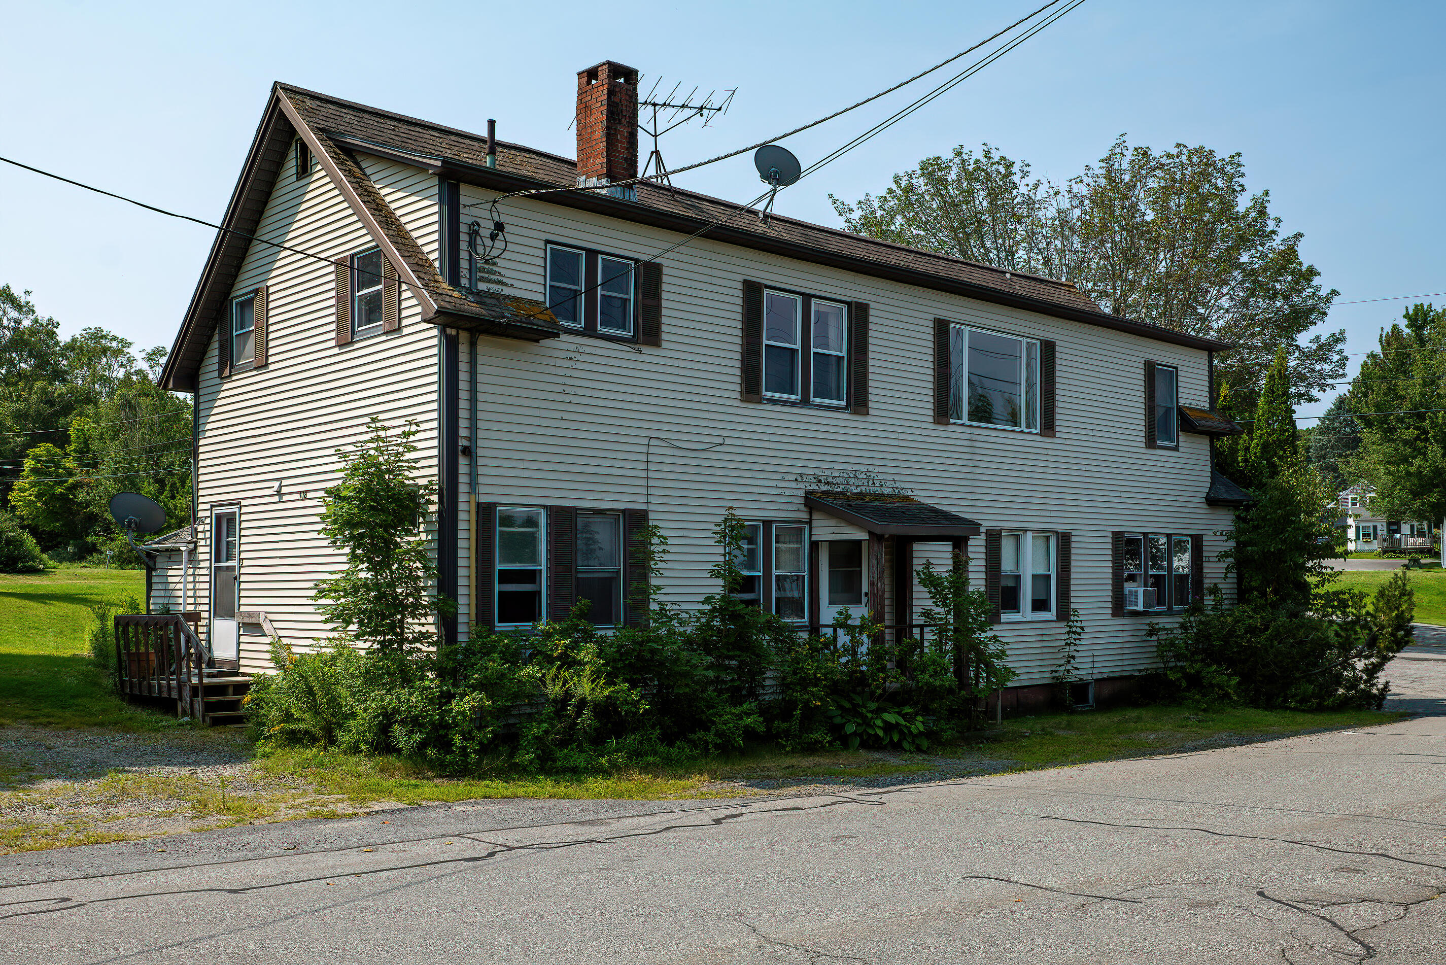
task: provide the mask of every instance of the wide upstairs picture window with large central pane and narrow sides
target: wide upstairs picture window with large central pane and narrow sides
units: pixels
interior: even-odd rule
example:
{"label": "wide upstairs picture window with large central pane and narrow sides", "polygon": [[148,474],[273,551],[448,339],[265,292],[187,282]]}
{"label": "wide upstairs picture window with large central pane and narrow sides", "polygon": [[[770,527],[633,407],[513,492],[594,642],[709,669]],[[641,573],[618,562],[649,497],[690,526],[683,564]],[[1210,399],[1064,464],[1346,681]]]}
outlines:
{"label": "wide upstairs picture window with large central pane and narrow sides", "polygon": [[983,328],[949,331],[949,418],[1040,431],[1040,343]]}

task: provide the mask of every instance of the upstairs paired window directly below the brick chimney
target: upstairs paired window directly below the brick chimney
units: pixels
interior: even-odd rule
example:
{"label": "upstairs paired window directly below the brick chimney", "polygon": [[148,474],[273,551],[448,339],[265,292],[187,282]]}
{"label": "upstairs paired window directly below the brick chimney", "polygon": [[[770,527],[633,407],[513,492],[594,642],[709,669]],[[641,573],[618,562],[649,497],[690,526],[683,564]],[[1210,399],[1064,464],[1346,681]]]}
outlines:
{"label": "upstairs paired window directly below the brick chimney", "polygon": [[568,328],[632,339],[638,327],[636,275],[633,259],[548,245],[548,308]]}

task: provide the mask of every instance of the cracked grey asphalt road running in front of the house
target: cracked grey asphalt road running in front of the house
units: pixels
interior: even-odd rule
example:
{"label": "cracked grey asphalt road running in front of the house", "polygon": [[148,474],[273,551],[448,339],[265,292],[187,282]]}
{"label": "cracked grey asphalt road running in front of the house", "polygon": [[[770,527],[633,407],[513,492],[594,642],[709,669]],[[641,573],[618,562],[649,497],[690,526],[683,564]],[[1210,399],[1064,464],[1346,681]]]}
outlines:
{"label": "cracked grey asphalt road running in front of the house", "polygon": [[[1398,658],[1392,700],[1446,710],[1443,651]],[[1443,890],[1446,716],[1421,716],[868,794],[12,855],[0,961],[1440,965]]]}

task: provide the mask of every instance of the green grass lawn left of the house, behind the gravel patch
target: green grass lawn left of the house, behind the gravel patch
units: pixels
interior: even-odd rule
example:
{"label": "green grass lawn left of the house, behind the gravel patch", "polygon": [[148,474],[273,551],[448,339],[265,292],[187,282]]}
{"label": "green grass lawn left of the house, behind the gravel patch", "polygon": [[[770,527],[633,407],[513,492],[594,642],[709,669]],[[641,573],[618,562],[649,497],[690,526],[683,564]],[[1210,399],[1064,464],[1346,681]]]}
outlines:
{"label": "green grass lawn left of the house, behind the gravel patch", "polygon": [[90,658],[91,603],[145,595],[142,570],[64,567],[0,574],[0,725],[150,731],[165,718],[127,706]]}

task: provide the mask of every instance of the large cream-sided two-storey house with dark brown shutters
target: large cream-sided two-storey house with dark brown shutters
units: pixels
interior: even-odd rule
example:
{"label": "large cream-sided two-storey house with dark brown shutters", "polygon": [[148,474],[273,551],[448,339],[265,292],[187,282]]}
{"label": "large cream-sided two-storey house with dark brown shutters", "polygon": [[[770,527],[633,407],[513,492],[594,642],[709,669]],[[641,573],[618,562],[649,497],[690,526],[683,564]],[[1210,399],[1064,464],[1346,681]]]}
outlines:
{"label": "large cream-sided two-storey house with dark brown shutters", "polygon": [[[578,72],[576,162],[272,90],[162,376],[195,399],[195,522],[153,599],[243,673],[272,634],[324,644],[321,490],[376,415],[421,427],[440,482],[451,639],[580,596],[638,621],[648,524],[671,545],[651,580],[696,605],[732,506],[746,593],[801,625],[917,622],[914,569],[966,548],[1019,673],[1005,709],[1040,697],[1071,609],[1100,697],[1150,668],[1147,624],[1223,583],[1213,534],[1246,498],[1212,470],[1210,437],[1239,431],[1212,411],[1226,346],[1047,278],[617,185],[636,77]],[[573,190],[518,194],[549,188]]]}

